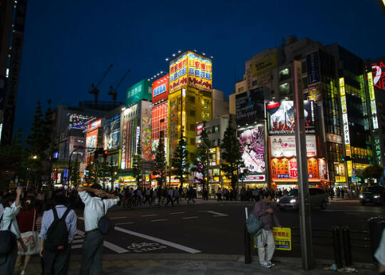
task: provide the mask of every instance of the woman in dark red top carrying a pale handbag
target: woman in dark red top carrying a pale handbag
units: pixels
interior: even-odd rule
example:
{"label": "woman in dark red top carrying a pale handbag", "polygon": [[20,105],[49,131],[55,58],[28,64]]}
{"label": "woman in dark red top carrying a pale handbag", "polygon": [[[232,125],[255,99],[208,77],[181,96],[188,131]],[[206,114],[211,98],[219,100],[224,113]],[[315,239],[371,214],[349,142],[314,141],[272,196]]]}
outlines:
{"label": "woman in dark red top carrying a pale handbag", "polygon": [[21,256],[26,256],[24,259],[24,266],[23,270],[21,271],[21,275],[24,275],[31,256],[34,254],[39,254],[40,251],[39,232],[36,231],[36,219],[38,213],[34,207],[34,203],[34,197],[26,197],[23,204],[21,204],[22,208],[20,209],[19,214],[16,216],[17,222],[19,224],[21,239],[23,239],[24,244],[26,244],[26,247],[28,248],[28,250],[24,252],[22,247],[19,246],[19,255],[16,259],[16,268],[21,266]]}

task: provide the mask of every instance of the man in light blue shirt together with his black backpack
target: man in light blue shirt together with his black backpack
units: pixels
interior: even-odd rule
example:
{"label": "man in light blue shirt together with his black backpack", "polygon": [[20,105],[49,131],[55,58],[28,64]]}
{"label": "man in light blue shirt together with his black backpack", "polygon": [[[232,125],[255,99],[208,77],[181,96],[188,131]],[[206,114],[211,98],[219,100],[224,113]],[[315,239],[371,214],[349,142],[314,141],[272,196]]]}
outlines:
{"label": "man in light blue shirt together with his black backpack", "polygon": [[41,219],[40,256],[43,257],[43,274],[67,274],[71,255],[71,242],[76,234],[76,213],[66,207],[64,192],[54,196],[55,205],[43,213]]}

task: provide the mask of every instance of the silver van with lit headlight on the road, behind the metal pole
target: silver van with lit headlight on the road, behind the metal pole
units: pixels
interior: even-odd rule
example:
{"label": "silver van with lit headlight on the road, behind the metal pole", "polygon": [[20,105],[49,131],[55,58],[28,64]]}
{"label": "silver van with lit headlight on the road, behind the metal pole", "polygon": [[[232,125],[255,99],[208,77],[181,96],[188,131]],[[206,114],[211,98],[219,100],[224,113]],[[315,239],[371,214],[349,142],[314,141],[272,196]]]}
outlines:
{"label": "silver van with lit headlight on the road, behind the metal pole", "polygon": [[[322,188],[309,188],[310,194],[310,207],[320,207],[321,209],[327,209],[329,205],[329,197]],[[298,189],[290,190],[290,192],[278,199],[277,204],[280,209],[298,209],[299,196]]]}

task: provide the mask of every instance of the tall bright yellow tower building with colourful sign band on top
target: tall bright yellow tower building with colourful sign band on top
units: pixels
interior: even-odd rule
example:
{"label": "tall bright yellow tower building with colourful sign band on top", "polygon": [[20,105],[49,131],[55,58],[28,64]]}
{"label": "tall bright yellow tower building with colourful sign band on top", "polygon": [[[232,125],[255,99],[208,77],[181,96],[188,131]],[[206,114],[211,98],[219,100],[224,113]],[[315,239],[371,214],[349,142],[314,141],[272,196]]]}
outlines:
{"label": "tall bright yellow tower building with colourful sign band on top", "polygon": [[168,95],[168,162],[181,134],[193,159],[195,125],[212,118],[212,61],[192,51],[185,51],[170,61]]}

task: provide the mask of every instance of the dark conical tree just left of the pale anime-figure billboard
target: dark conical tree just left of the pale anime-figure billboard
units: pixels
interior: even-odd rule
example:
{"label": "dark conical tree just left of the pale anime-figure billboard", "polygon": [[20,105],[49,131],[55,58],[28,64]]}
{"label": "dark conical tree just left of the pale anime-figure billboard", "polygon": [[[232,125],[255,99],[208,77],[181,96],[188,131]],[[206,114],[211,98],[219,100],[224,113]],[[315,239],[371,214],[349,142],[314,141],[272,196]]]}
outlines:
{"label": "dark conical tree just left of the pale anime-figure billboard", "polygon": [[225,172],[226,177],[231,180],[233,190],[237,187],[238,172],[245,167],[240,152],[240,141],[235,134],[236,131],[232,128],[232,119],[229,120],[229,125],[223,135],[222,144],[220,145],[220,155],[222,157],[221,170]]}

